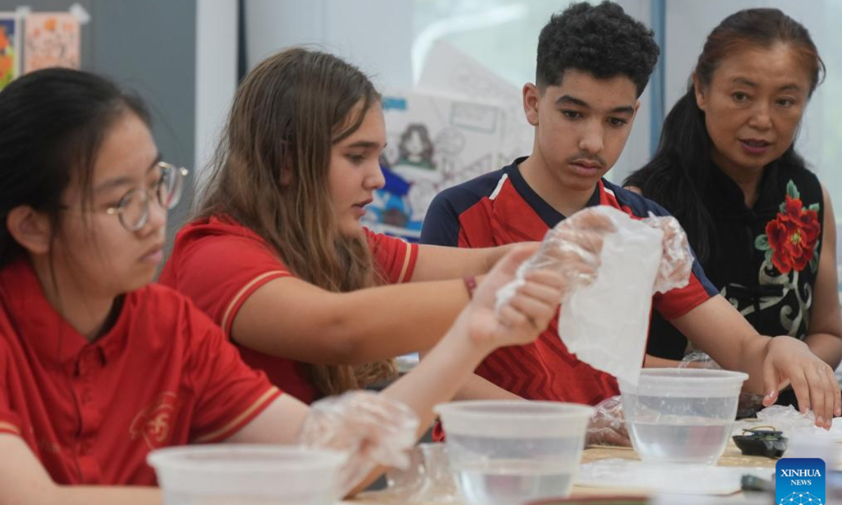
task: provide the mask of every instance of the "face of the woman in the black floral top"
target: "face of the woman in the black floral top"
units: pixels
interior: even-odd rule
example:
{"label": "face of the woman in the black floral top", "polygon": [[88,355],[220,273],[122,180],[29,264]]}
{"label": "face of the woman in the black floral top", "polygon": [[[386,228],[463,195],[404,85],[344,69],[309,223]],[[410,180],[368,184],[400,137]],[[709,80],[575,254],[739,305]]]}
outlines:
{"label": "face of the woman in the black floral top", "polygon": [[790,45],[748,47],[724,58],[706,87],[695,80],[713,161],[726,173],[762,170],[795,135],[810,91],[807,67]]}

